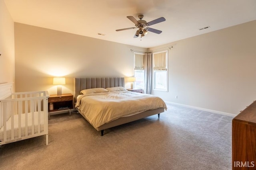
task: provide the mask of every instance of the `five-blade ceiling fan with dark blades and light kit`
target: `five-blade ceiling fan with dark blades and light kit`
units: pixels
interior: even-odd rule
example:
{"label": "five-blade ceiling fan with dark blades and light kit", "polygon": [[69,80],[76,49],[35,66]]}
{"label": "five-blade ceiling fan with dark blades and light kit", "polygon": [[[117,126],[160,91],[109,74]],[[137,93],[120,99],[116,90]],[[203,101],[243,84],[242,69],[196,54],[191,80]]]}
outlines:
{"label": "five-blade ceiling fan with dark blades and light kit", "polygon": [[148,33],[148,31],[157,33],[157,34],[162,33],[162,31],[160,31],[158,29],[150,28],[148,26],[165,21],[164,17],[158,18],[158,19],[150,21],[150,22],[146,22],[145,20],[142,20],[143,15],[139,15],[138,17],[140,20],[137,21],[133,16],[127,16],[127,18],[129,20],[131,20],[133,23],[135,23],[135,27],[116,29],[116,31],[123,31],[126,29],[138,28],[138,30],[136,31],[136,33],[134,35],[134,38],[137,38],[138,36],[143,37]]}

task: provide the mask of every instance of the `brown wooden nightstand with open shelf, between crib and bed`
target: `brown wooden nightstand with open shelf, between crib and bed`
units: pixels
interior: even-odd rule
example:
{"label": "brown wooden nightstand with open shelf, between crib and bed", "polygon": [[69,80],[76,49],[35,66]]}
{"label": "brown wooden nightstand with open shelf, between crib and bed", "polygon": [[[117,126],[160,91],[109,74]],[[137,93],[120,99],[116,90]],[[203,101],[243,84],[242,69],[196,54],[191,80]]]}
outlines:
{"label": "brown wooden nightstand with open shelf, between crib and bed", "polygon": [[71,115],[71,109],[73,109],[72,94],[62,94],[61,96],[52,94],[48,98],[48,119],[50,119],[51,112],[69,110],[69,115]]}

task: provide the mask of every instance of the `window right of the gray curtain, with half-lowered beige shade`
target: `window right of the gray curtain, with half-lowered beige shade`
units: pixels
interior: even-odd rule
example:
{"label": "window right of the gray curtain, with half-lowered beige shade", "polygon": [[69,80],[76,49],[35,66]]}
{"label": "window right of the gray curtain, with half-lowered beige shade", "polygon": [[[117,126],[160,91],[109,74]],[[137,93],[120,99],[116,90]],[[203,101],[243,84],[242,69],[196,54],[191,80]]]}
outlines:
{"label": "window right of the gray curtain, with half-lowered beige shade", "polygon": [[153,53],[154,90],[168,91],[168,51]]}

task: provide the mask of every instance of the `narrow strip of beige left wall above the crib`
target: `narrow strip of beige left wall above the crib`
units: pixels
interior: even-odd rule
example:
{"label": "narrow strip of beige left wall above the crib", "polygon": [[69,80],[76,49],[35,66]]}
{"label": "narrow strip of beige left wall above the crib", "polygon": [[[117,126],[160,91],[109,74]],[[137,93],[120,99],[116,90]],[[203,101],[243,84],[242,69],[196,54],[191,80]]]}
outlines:
{"label": "narrow strip of beige left wall above the crib", "polygon": [[14,22],[0,0],[0,83],[14,82]]}

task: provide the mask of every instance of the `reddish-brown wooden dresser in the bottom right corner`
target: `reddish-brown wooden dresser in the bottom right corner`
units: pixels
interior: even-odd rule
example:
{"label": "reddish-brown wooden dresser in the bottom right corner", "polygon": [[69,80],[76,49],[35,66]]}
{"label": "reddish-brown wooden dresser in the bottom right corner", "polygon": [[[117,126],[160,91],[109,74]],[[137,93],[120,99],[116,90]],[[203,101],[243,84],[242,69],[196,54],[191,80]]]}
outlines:
{"label": "reddish-brown wooden dresser in the bottom right corner", "polygon": [[256,101],[232,120],[232,169],[256,169]]}

